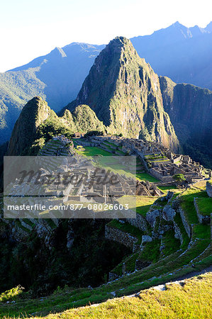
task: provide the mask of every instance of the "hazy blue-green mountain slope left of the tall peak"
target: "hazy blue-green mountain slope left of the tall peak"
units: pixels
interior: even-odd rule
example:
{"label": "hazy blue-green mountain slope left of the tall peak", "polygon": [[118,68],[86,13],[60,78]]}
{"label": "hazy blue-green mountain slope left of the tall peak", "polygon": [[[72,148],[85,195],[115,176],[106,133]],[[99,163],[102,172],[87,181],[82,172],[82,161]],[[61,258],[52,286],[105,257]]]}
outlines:
{"label": "hazy blue-green mountain slope left of the tall peak", "polygon": [[0,144],[9,140],[21,109],[34,96],[42,96],[54,111],[75,99],[103,47],[86,43],[55,47],[28,65],[0,73]]}

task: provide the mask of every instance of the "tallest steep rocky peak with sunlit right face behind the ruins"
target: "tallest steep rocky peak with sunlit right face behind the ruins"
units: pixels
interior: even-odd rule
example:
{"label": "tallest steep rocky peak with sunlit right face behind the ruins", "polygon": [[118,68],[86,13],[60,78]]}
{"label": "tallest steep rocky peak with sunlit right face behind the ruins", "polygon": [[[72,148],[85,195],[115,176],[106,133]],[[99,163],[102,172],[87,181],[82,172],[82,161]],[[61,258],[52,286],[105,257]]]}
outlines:
{"label": "tallest steep rocky peak with sunlit right face behind the ruins", "polygon": [[108,133],[142,135],[174,150],[179,145],[162,105],[159,78],[126,38],[115,38],[96,57],[77,99],[67,108],[79,104],[89,105]]}

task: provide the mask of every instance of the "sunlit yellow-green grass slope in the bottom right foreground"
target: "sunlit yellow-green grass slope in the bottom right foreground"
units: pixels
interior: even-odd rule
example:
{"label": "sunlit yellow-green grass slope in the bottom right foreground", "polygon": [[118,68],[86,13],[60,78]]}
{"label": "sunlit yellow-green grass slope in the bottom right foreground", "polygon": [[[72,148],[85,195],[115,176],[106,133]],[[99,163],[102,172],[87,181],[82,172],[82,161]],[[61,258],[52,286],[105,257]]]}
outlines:
{"label": "sunlit yellow-green grass slope in the bottom right foreground", "polygon": [[212,274],[208,273],[186,279],[182,284],[166,284],[165,291],[148,289],[131,298],[70,309],[60,313],[60,318],[211,318],[211,293]]}

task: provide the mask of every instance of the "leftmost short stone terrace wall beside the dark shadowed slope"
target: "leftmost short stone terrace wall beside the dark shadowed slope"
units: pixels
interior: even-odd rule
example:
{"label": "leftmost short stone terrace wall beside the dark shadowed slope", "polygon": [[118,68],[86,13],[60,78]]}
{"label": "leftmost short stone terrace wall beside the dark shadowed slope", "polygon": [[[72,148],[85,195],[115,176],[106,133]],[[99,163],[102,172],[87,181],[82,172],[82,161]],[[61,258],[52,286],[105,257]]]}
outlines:
{"label": "leftmost short stone terrace wall beside the dark shadowed slope", "polygon": [[119,242],[120,244],[129,247],[131,250],[135,247],[135,242],[138,242],[137,237],[134,237],[129,233],[125,233],[118,228],[109,227],[108,225],[105,227],[105,237],[108,240],[113,240],[113,242]]}

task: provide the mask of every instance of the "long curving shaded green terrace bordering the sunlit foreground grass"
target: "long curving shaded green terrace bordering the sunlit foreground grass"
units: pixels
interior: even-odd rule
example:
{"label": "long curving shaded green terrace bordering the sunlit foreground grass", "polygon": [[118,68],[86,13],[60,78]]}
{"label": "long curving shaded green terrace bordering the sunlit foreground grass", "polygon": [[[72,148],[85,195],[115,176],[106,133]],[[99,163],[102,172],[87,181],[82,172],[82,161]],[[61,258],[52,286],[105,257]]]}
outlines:
{"label": "long curving shaded green terrace bordering the sunlit foreground grass", "polygon": [[[139,271],[135,274],[130,274],[129,276],[123,276],[118,281],[111,282],[111,284],[106,284],[95,289],[71,290],[65,288],[61,291],[57,291],[57,293],[52,294],[51,296],[40,299],[21,300],[14,297],[10,298],[9,300],[16,300],[16,303],[0,303],[1,318],[4,318],[4,315],[16,318],[19,315],[48,315],[48,313],[58,313],[62,310],[77,308],[79,306],[86,306],[90,303],[99,303],[101,301],[106,301],[107,299],[112,298],[111,292],[115,292],[116,296],[123,296],[125,294],[135,293],[140,291],[140,289],[147,289],[150,286],[162,284],[189,272],[203,269],[211,264],[212,261],[212,257],[208,257],[206,255],[206,257],[204,257],[201,262],[193,262],[193,267],[191,267],[191,265],[188,265],[183,269],[179,269],[177,271],[177,269],[179,268],[179,264],[182,262],[182,258],[177,257],[179,257],[179,252],[162,259],[156,264],[147,267],[147,269],[143,269],[142,272]],[[172,259],[171,263],[173,265],[173,269],[176,269],[175,272],[173,272],[173,270],[171,272],[171,269],[169,269],[170,258]],[[191,256],[185,256],[184,262],[186,262],[190,258]],[[177,260],[177,262],[174,263],[173,260]],[[169,273],[166,274],[167,269],[169,269]],[[200,296],[202,296],[202,294],[200,294]],[[191,302],[189,301],[189,303]],[[72,311],[77,310],[73,309]]]}

